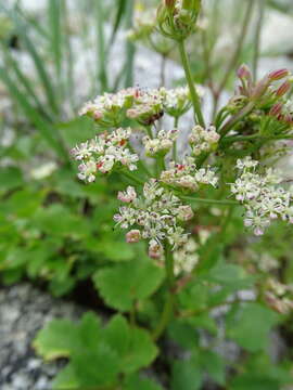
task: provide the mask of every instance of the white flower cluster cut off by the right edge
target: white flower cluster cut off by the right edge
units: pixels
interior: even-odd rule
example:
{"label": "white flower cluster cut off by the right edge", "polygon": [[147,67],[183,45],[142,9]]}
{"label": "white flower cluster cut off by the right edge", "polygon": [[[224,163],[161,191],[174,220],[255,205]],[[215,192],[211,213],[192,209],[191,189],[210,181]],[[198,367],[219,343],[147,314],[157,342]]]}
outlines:
{"label": "white flower cluster cut off by the right edge", "polygon": [[293,223],[293,206],[290,192],[277,185],[281,182],[278,172],[269,168],[259,174],[255,172],[257,165],[251,157],[238,160],[240,177],[231,184],[231,192],[245,206],[245,226],[252,227],[255,235],[263,235],[277,218]]}

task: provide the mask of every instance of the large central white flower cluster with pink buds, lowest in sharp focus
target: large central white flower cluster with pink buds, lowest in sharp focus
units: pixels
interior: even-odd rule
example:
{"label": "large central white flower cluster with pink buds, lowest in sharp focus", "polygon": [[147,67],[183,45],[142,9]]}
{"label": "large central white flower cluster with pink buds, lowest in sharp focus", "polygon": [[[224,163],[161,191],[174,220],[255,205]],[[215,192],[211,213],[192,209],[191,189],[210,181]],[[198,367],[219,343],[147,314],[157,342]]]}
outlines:
{"label": "large central white flower cluster with pink buds, lowest in sharp focus", "polygon": [[182,205],[171,192],[162,187],[157,180],[151,179],[143,186],[143,195],[128,186],[126,192],[118,193],[118,199],[127,204],[119,208],[114,221],[122,229],[132,227],[126,234],[128,243],[141,238],[149,240],[149,256],[158,259],[163,255],[163,242],[167,240],[173,249],[188,240],[188,234],[180,226],[181,222],[193,217],[190,206]]}

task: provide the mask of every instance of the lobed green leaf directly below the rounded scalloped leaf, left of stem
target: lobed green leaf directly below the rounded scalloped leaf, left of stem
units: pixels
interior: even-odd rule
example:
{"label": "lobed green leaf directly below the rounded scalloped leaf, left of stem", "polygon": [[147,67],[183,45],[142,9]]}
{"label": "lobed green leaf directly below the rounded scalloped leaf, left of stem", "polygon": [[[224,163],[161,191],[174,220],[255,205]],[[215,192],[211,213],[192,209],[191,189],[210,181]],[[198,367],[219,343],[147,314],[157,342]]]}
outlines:
{"label": "lobed green leaf directly below the rounded scalloped leaf, left of stem", "polygon": [[157,355],[148,332],[130,328],[122,315],[112,318],[105,329],[105,342],[120,358],[120,372],[129,374],[146,367]]}

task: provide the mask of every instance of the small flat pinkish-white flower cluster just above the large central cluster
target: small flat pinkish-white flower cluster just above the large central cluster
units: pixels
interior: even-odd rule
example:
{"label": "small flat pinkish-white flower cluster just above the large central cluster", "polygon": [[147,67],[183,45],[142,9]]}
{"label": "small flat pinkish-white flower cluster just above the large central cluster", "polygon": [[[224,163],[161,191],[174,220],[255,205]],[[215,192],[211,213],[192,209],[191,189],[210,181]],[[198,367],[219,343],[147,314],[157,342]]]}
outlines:
{"label": "small flat pinkish-white flower cluster just above the large central cluster", "polygon": [[218,178],[209,167],[196,169],[194,158],[187,157],[182,164],[170,161],[169,169],[161,173],[161,181],[168,185],[196,191],[200,184],[216,186]]}

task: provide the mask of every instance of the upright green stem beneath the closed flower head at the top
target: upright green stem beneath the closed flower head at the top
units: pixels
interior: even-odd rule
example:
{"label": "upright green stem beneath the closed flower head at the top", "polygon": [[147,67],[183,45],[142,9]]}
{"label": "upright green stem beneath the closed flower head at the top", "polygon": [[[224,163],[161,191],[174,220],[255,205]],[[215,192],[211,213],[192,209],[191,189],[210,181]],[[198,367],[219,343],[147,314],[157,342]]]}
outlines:
{"label": "upright green stem beneath the closed flower head at the top", "polygon": [[188,82],[189,90],[190,90],[191,101],[193,104],[194,119],[203,128],[205,128],[204,118],[203,118],[203,114],[202,114],[202,109],[201,109],[201,100],[196,92],[196,89],[194,87],[194,82],[192,79],[192,74],[191,74],[190,63],[189,63],[189,58],[188,58],[186,47],[184,47],[184,41],[183,40],[178,41],[178,47],[179,47],[179,52],[180,52],[181,62],[182,62],[182,65],[184,68],[186,77],[187,77],[187,82]]}

